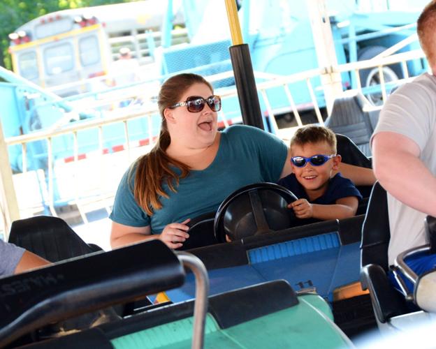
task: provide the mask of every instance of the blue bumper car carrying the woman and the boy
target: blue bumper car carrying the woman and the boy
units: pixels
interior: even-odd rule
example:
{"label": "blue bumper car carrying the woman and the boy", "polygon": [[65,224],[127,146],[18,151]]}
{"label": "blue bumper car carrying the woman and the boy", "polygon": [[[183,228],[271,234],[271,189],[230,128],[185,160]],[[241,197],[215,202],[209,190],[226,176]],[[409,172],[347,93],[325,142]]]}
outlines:
{"label": "blue bumper car carrying the woman and the boy", "polygon": [[[337,138],[344,161],[370,166],[368,158],[349,139],[340,135]],[[261,207],[247,201],[247,195],[255,193]],[[324,297],[344,331],[358,332],[373,325],[369,297],[358,283],[365,200],[358,216],[318,223],[296,220],[286,208],[291,200],[295,200],[293,194],[276,184],[254,184],[230,195],[217,213],[191,221],[191,237],[184,247],[208,268],[211,295],[284,279],[297,292],[316,291]],[[259,211],[265,214],[263,224],[259,224]],[[226,243],[224,233],[235,241]],[[15,221],[9,241],[52,262],[99,250],[82,242],[60,218],[45,216]],[[166,295],[172,302],[193,299],[194,283],[194,275],[187,274],[182,288]],[[351,295],[343,295],[350,290]],[[138,306],[133,304],[131,308]],[[349,315],[353,312],[357,315],[351,321]]]}

